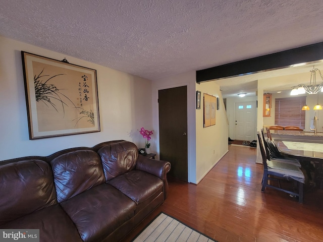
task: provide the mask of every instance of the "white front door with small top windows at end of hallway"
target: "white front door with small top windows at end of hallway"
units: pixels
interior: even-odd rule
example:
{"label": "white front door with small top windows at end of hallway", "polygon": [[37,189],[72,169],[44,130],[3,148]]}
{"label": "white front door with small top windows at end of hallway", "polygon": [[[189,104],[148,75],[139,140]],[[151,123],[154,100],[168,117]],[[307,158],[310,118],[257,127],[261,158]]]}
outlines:
{"label": "white front door with small top windows at end of hallway", "polygon": [[256,102],[235,103],[235,139],[256,139]]}

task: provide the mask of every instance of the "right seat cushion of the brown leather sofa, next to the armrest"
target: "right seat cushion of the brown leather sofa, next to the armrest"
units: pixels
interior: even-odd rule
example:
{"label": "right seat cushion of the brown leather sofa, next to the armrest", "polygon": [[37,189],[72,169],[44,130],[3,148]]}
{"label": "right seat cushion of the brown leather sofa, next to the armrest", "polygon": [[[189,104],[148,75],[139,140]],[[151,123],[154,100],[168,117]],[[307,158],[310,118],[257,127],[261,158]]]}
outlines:
{"label": "right seat cushion of the brown leather sofa, next to the armrest", "polygon": [[127,195],[137,205],[148,204],[163,192],[161,179],[136,169],[109,180],[108,184]]}

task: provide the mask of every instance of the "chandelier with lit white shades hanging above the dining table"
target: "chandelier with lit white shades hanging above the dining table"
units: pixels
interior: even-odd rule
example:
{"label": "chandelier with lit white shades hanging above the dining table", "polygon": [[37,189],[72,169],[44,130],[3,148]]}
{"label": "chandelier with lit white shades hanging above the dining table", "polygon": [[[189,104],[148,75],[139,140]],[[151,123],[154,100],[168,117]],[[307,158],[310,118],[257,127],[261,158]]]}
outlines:
{"label": "chandelier with lit white shades hanging above the dining table", "polygon": [[[320,84],[316,84],[316,72],[318,71],[322,82]],[[309,85],[305,85],[305,84],[299,84],[297,86],[292,87],[292,91],[291,91],[291,95],[298,95],[298,94],[304,94],[304,93],[308,93],[308,94],[316,94],[319,91],[323,91],[322,87],[323,87],[323,77],[321,72],[317,69],[314,68],[310,71],[311,73],[311,79],[309,81]]]}

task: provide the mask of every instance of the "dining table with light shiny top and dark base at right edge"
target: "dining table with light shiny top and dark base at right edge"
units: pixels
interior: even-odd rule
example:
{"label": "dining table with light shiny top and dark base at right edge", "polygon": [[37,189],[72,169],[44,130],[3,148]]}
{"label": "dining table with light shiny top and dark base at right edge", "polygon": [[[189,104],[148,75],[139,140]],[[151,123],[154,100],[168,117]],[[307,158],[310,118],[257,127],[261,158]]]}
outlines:
{"label": "dining table with light shiny top and dark base at right edge", "polygon": [[274,138],[278,151],[286,157],[314,167],[314,183],[323,189],[323,140]]}

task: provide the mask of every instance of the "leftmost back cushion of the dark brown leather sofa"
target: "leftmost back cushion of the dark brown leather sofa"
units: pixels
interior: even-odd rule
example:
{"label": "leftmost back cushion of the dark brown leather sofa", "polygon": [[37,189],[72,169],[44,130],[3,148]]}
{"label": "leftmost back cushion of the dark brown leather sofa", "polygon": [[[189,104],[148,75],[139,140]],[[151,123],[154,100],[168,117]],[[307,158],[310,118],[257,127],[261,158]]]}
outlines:
{"label": "leftmost back cushion of the dark brown leather sofa", "polygon": [[50,165],[22,160],[0,165],[0,224],[56,204]]}

